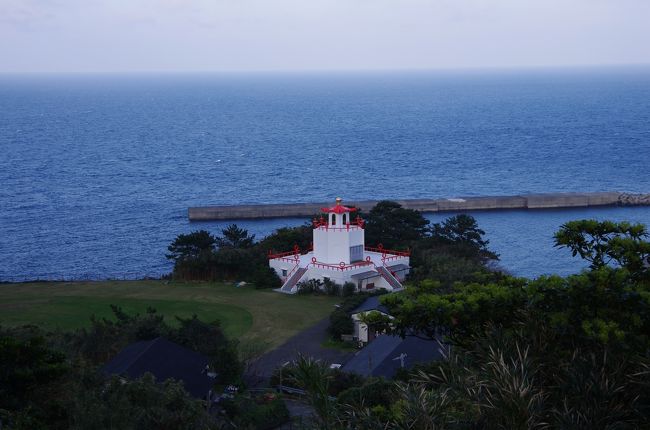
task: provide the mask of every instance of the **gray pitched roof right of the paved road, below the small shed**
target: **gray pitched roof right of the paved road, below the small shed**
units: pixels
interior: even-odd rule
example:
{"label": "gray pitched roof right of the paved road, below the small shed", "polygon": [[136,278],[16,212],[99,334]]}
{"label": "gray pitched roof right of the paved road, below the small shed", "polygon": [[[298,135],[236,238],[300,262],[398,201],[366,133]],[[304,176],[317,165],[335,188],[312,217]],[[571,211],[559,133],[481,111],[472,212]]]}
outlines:
{"label": "gray pitched roof right of the paved road, below the small shed", "polygon": [[404,367],[440,360],[440,345],[435,340],[407,336],[381,335],[352,357],[341,370],[362,376],[382,376],[392,378],[401,367],[402,354]]}

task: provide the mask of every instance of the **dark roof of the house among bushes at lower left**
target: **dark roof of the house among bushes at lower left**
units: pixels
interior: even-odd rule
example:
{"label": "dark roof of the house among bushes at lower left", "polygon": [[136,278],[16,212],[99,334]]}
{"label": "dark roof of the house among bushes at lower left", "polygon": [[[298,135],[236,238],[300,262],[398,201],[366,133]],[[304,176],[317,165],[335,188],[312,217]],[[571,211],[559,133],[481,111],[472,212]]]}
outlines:
{"label": "dark roof of the house among bushes at lower left", "polygon": [[102,367],[109,375],[139,378],[149,372],[157,381],[173,378],[196,398],[205,398],[214,384],[207,375],[208,359],[203,355],[158,337],[132,343]]}

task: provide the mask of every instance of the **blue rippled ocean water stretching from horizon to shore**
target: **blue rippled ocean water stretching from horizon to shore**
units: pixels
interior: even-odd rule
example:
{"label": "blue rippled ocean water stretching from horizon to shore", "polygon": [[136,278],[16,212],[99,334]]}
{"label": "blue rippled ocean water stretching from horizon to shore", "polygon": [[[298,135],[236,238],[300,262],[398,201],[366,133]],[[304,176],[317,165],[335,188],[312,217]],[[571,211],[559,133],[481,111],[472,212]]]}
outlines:
{"label": "blue rippled ocean water stretching from horizon to shore", "polygon": [[[0,76],[0,280],[168,272],[177,234],[227,224],[189,206],[648,193],[649,166],[649,68]],[[522,276],[581,269],[552,246],[568,220],[650,225],[647,207],[474,216]]]}

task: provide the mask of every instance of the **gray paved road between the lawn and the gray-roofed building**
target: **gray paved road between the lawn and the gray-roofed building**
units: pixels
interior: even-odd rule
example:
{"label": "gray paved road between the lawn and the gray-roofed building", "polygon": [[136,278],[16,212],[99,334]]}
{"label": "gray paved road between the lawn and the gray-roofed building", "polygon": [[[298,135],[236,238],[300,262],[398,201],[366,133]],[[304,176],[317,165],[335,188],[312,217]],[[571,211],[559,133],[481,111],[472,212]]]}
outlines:
{"label": "gray paved road between the lawn and the gray-roofed building", "polygon": [[250,367],[247,375],[250,382],[255,386],[268,383],[268,379],[275,369],[287,361],[295,360],[298,354],[310,356],[325,363],[345,363],[353,353],[321,346],[321,343],[327,339],[328,325],[329,318],[325,318],[301,331],[276,349],[262,355]]}

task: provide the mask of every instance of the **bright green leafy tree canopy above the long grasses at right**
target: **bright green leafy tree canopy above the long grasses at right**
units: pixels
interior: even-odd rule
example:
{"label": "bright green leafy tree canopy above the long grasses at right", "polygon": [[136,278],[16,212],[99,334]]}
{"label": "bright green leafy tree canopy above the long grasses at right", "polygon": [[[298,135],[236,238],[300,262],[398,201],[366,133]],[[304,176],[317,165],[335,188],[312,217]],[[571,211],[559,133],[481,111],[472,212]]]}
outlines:
{"label": "bright green leafy tree canopy above the long grasses at right", "polygon": [[443,330],[462,343],[487,323],[527,327],[531,338],[547,327],[562,334],[549,346],[558,351],[605,345],[642,353],[650,348],[650,295],[642,276],[647,269],[639,264],[646,255],[647,242],[640,239],[645,234],[643,226],[627,223],[567,223],[557,241],[592,262],[591,271],[536,280],[501,276],[458,283],[451,291],[425,280],[384,303],[402,334],[411,330],[433,338]]}

